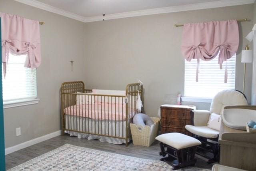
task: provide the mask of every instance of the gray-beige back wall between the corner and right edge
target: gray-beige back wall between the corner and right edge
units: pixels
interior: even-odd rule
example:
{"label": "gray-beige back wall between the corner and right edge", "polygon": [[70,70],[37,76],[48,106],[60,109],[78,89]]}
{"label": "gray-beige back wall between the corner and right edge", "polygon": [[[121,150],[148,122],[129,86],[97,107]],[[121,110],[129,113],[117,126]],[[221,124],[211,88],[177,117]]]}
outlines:
{"label": "gray-beige back wall between the corner and right edge", "polygon": [[[174,24],[212,20],[252,19],[253,6],[242,5],[194,10],[85,24],[86,85],[99,89],[124,89],[140,79],[144,83],[144,106],[155,116],[168,95],[184,94],[184,58],[180,45],[182,27]],[[239,23],[240,46],[236,56],[236,89],[242,90],[241,50],[252,21]],[[246,96],[251,99],[252,65],[247,65]],[[195,104],[209,109],[210,103]]]}

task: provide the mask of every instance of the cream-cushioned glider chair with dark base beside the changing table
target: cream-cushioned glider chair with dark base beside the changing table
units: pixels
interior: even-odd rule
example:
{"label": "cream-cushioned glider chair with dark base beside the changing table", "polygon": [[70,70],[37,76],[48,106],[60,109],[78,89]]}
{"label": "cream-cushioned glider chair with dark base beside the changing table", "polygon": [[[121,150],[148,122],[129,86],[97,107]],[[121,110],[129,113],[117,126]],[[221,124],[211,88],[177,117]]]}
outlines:
{"label": "cream-cushioned glider chair with dark base beside the changing table", "polygon": [[[209,159],[207,163],[219,161],[218,136],[222,122],[221,115],[224,107],[232,105],[248,105],[245,95],[237,90],[223,90],[212,99],[210,111],[194,110],[191,112],[194,125],[186,125],[185,128],[201,141],[202,145],[197,146],[196,153]],[[213,153],[213,158],[209,157],[207,152]]]}

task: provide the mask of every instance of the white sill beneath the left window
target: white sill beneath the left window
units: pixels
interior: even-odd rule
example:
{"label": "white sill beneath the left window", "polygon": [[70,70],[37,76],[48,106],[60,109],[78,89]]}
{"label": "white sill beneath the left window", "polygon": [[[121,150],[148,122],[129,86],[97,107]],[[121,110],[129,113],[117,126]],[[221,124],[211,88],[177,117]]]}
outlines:
{"label": "white sill beneath the left window", "polygon": [[12,107],[25,106],[25,105],[38,104],[39,100],[40,99],[36,98],[36,99],[24,99],[24,100],[7,101],[7,102],[4,102],[4,109],[12,108]]}

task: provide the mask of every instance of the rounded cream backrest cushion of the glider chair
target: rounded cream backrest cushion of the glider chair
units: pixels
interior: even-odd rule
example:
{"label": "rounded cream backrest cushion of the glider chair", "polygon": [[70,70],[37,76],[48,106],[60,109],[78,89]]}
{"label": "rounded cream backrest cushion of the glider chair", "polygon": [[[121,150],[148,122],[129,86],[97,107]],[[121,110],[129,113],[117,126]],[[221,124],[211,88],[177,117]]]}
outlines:
{"label": "rounded cream backrest cushion of the glider chair", "polygon": [[222,90],[212,99],[210,113],[220,115],[225,106],[233,105],[248,105],[248,103],[241,92],[233,89]]}

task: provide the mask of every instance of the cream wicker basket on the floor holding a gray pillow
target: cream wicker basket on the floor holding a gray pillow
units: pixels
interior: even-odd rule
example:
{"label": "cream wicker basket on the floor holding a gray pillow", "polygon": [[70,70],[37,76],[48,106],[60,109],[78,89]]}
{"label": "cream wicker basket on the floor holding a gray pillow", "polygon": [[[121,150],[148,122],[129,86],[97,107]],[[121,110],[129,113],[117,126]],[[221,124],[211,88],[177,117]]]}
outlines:
{"label": "cream wicker basket on the floor holding a gray pillow", "polygon": [[156,135],[158,133],[158,125],[160,122],[160,118],[151,117],[151,119],[154,121],[154,124],[151,125],[151,127],[148,125],[142,126],[130,123],[130,128],[132,132],[132,142],[134,145],[142,145],[149,147],[155,141]]}

